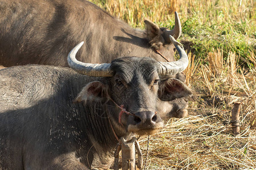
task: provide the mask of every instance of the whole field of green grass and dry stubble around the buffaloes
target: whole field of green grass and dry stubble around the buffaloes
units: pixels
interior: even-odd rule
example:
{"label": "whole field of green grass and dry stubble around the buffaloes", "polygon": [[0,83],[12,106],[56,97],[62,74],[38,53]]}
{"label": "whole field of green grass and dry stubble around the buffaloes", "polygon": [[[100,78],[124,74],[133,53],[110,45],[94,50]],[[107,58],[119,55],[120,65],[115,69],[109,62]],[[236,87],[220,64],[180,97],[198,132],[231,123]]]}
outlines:
{"label": "whole field of green grass and dry stubble around the buffaloes", "polygon": [[[174,26],[179,13],[189,44],[187,84],[196,91],[189,116],[173,118],[150,137],[146,169],[256,169],[256,15],[254,0],[93,0],[132,27],[148,18]],[[234,137],[234,102],[242,103],[241,133]],[[140,139],[144,160],[147,137]]]}

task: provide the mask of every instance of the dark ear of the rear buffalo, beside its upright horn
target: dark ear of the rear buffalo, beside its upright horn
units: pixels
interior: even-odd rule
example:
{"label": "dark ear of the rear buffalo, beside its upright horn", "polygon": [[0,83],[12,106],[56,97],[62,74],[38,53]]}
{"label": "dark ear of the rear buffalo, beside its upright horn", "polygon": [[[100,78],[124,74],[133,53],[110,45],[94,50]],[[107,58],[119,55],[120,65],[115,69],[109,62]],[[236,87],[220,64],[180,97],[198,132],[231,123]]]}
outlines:
{"label": "dark ear of the rear buffalo, beside its upright horn", "polygon": [[158,25],[151,22],[151,20],[144,20],[144,23],[146,24],[147,37],[151,46],[158,50],[160,45],[164,42],[160,28]]}

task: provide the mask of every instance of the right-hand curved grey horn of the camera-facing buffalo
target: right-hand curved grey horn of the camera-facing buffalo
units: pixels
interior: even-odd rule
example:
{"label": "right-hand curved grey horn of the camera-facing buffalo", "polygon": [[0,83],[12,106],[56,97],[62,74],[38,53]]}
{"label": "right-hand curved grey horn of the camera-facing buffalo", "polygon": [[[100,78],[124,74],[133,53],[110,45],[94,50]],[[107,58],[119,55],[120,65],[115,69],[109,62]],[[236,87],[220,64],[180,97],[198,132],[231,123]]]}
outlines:
{"label": "right-hand curved grey horn of the camera-facing buffalo", "polygon": [[180,55],[180,59],[178,61],[173,62],[158,62],[159,63],[159,75],[174,75],[177,73],[181,73],[188,66],[188,56],[185,53],[183,46],[180,42],[177,42],[174,37],[170,36],[171,42],[175,45],[177,52]]}

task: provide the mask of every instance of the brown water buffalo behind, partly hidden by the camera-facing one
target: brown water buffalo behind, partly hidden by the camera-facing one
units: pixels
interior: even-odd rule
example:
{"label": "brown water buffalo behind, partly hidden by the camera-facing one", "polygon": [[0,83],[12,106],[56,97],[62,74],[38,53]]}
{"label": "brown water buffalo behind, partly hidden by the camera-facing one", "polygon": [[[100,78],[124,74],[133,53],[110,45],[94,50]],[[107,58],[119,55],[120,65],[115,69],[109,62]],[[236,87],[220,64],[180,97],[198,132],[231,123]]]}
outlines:
{"label": "brown water buffalo behind, partly hidden by the camera-facing one", "polygon": [[[109,63],[125,56],[174,61],[169,35],[181,34],[175,12],[172,30],[145,20],[146,29],[131,28],[88,1],[0,0],[0,65],[68,67],[72,46],[86,41],[77,54],[82,62]],[[158,52],[156,52],[158,50]]]}

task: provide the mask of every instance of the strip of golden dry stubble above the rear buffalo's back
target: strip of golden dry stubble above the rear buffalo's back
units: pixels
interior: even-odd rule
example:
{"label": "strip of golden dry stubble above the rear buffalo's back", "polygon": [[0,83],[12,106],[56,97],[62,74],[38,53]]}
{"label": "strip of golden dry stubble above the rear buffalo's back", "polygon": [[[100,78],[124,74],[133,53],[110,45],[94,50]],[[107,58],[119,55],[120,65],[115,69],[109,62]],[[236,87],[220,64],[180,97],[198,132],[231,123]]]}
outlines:
{"label": "strip of golden dry stubble above the rear buffalo's back", "polygon": [[122,18],[134,27],[144,27],[144,18],[151,19],[152,21],[165,20],[170,21],[174,15],[174,11],[179,10],[179,2],[176,0],[152,1],[152,0],[109,0],[92,1],[97,3],[110,14],[117,18]]}

